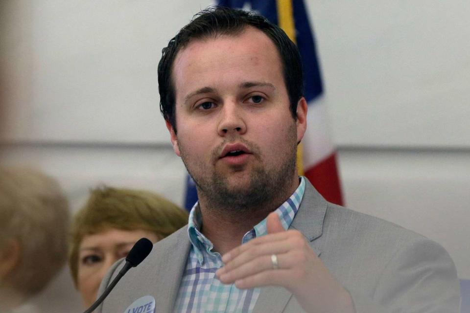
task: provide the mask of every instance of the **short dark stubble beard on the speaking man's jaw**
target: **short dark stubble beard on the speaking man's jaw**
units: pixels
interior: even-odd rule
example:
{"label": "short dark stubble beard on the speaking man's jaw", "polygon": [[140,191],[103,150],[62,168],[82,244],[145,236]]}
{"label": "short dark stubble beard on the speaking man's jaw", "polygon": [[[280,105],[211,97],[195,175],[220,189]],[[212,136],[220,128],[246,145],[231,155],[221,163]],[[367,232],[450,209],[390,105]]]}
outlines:
{"label": "short dark stubble beard on the speaking man's jaw", "polygon": [[[260,151],[257,145],[242,138],[236,138],[237,141],[242,142],[252,152],[255,152],[252,156],[257,157],[259,161],[246,174],[250,176],[248,182],[244,186],[238,187],[231,186],[229,179],[222,173],[208,169],[209,164],[193,162],[193,167],[190,168],[188,166],[188,155],[184,149],[181,149],[181,146],[179,148],[183,163],[197,186],[199,197],[204,198],[214,210],[223,210],[224,214],[239,214],[252,211],[253,208],[276,204],[272,202],[279,202],[280,198],[285,201],[290,196],[285,196],[284,193],[290,189],[296,169],[297,134],[295,124],[294,127],[289,129],[288,135],[289,138],[286,138],[286,142],[292,142],[292,147],[284,155],[279,156],[282,158],[281,164],[273,165],[272,168],[262,166],[262,160],[259,154],[256,153]],[[226,142],[221,144],[220,147],[225,144]],[[214,150],[214,158],[219,156],[220,150]],[[211,175],[207,175],[207,173],[211,173]],[[280,205],[281,203],[277,204]]]}

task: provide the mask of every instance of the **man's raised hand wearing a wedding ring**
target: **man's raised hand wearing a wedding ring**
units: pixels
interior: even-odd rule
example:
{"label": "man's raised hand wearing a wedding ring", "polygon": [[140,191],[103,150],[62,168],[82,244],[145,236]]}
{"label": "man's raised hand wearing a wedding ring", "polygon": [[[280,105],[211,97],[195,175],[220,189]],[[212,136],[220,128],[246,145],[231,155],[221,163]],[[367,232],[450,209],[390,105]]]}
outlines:
{"label": "man's raised hand wearing a wedding ring", "polygon": [[[272,212],[268,234],[236,247],[222,257],[216,271],[224,284],[238,289],[282,286],[292,292],[305,312],[354,312],[351,296],[329,273],[297,230],[284,230]],[[277,264],[276,264],[277,261]]]}

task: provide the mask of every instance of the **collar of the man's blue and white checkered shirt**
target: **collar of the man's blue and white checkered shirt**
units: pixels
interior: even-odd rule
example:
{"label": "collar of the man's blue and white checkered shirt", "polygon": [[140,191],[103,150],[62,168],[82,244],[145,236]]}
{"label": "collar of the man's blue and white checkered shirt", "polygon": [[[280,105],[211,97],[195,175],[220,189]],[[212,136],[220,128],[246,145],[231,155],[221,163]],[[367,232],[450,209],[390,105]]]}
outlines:
{"label": "collar of the man's blue and white checkered shirt", "polygon": [[[301,176],[299,178],[299,187],[294,193],[287,199],[280,207],[276,209],[276,213],[279,216],[282,227],[287,230],[292,224],[297,211],[299,210],[300,203],[304,197],[305,192],[305,178]],[[213,245],[209,239],[201,233],[202,215],[199,208],[199,201],[197,201],[189,212],[188,220],[188,236],[189,241],[192,244],[194,253],[200,264],[204,262],[204,254],[209,253],[210,255],[218,254],[212,252]],[[248,231],[242,239],[242,243],[246,243],[253,238],[264,236],[267,234],[266,219],[256,224],[250,231]]]}

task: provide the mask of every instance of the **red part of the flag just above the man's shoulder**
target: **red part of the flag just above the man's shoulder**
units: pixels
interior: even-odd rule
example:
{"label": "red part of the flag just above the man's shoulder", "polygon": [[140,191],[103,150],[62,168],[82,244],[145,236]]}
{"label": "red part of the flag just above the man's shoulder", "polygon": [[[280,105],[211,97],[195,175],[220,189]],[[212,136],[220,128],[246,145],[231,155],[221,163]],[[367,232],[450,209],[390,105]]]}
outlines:
{"label": "red part of the flag just above the man's shoulder", "polygon": [[336,167],[336,152],[306,169],[305,177],[327,201],[343,205],[339,173]]}

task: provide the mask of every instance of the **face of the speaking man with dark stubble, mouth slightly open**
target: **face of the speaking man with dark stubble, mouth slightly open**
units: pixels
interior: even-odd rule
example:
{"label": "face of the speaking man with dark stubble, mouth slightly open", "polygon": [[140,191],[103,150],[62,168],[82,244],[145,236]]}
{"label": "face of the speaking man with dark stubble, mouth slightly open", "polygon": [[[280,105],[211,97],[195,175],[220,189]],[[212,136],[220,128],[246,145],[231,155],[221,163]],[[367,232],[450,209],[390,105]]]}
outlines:
{"label": "face of the speaking man with dark stubble, mouth slightly open", "polygon": [[279,53],[263,32],[248,27],[191,42],[178,53],[172,79],[177,134],[167,127],[200,192],[262,202],[255,198],[297,179],[305,99],[295,121]]}

